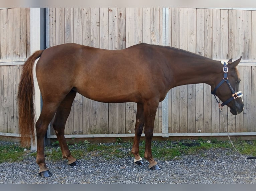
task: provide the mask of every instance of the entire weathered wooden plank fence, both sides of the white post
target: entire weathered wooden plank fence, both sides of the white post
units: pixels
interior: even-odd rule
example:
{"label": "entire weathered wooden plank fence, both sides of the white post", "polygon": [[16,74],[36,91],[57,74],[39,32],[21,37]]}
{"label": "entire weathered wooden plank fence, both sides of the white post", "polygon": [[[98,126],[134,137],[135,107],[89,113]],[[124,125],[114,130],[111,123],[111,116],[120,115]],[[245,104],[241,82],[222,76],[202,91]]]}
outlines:
{"label": "entire weathered wooden plank fence, both sides of the white post", "polygon": [[[19,136],[16,92],[30,55],[29,8],[0,10],[0,135]],[[238,69],[243,113],[224,107],[228,130],[256,135],[256,11],[196,8],[49,8],[46,47],[78,43],[119,50],[141,42],[181,48],[217,60],[243,56]],[[14,30],[13,30],[14,29]],[[11,88],[10,88],[11,87]],[[67,137],[134,136],[136,103],[101,103],[77,95]],[[173,88],[159,103],[154,135],[221,135],[218,104],[206,84]],[[201,130],[201,134],[198,133]],[[49,127],[47,137],[55,137]]]}

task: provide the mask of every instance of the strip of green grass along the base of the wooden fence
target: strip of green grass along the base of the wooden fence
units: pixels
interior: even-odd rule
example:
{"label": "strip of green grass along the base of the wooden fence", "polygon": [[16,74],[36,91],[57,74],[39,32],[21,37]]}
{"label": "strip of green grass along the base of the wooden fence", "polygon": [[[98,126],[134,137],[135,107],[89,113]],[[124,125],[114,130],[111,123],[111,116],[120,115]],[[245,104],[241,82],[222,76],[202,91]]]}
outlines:
{"label": "strip of green grass along the base of the wooden fence", "polygon": [[[211,140],[211,139],[210,139]],[[188,147],[182,143],[200,143],[199,146]],[[234,141],[235,146],[241,154],[248,156],[256,156],[256,140],[254,141]],[[115,158],[125,158],[127,156],[133,157],[131,154],[132,143],[122,142],[117,140],[116,143],[111,144],[91,144],[87,142],[80,142],[76,145],[69,145],[72,155],[78,159],[90,159],[92,157],[102,157],[110,160]],[[182,155],[199,154],[202,151],[217,148],[229,148],[230,153],[235,153],[229,141],[217,141],[199,139],[199,140],[183,140],[183,141],[153,141],[152,155],[158,160],[173,160]],[[144,156],[145,141],[140,142],[139,154]],[[203,152],[202,152],[203,153]],[[16,145],[0,145],[0,163],[2,162],[19,162],[27,156],[36,157],[36,152],[24,151],[24,148]],[[203,155],[202,155],[203,156]],[[62,153],[58,142],[45,147],[45,159],[53,162],[62,160]]]}

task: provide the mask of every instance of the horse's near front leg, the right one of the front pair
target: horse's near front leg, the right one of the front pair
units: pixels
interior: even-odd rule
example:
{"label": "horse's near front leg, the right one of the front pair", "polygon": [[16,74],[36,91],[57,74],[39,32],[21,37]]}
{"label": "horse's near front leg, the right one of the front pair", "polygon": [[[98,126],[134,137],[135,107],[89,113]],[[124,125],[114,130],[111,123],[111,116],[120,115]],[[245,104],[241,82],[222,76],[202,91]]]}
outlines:
{"label": "horse's near front leg, the right one of the front pair", "polygon": [[144,157],[149,161],[149,168],[152,170],[159,170],[160,168],[157,165],[157,162],[153,159],[151,151],[151,143],[154,130],[154,121],[156,110],[158,107],[158,102],[147,102],[144,104],[144,117],[145,117],[145,154]]}

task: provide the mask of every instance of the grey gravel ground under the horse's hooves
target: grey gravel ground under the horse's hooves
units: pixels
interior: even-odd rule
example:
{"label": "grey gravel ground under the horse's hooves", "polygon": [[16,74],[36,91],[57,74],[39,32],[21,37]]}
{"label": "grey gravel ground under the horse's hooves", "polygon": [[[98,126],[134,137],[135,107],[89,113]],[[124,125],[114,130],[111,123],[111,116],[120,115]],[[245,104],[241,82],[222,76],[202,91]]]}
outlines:
{"label": "grey gravel ground under the horse's hooves", "polygon": [[[13,144],[0,141],[0,144]],[[111,144],[111,143],[110,143]],[[124,148],[127,153],[131,148]],[[78,159],[79,166],[66,160],[46,161],[51,177],[41,178],[34,157],[21,162],[5,162],[0,168],[0,183],[256,183],[256,160],[245,160],[232,149],[210,149],[170,161],[156,160],[160,170],[133,164],[126,156],[117,160],[93,157]]]}

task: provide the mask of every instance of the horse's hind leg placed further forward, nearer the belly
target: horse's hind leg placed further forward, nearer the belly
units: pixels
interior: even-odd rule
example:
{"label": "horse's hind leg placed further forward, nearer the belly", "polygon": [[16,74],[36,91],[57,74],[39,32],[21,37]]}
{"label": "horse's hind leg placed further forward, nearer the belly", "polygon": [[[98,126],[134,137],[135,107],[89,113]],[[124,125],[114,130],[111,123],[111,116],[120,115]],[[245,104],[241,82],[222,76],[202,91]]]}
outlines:
{"label": "horse's hind leg placed further forward, nearer the belly", "polygon": [[54,121],[52,123],[53,129],[55,130],[57,139],[59,141],[60,149],[62,152],[62,157],[68,159],[69,165],[78,165],[78,161],[76,158],[74,158],[67,145],[67,141],[64,137],[64,129],[65,129],[65,124],[68,119],[68,116],[70,114],[71,106],[73,103],[73,100],[76,96],[75,91],[71,91],[65,99],[60,103],[56,114]]}

